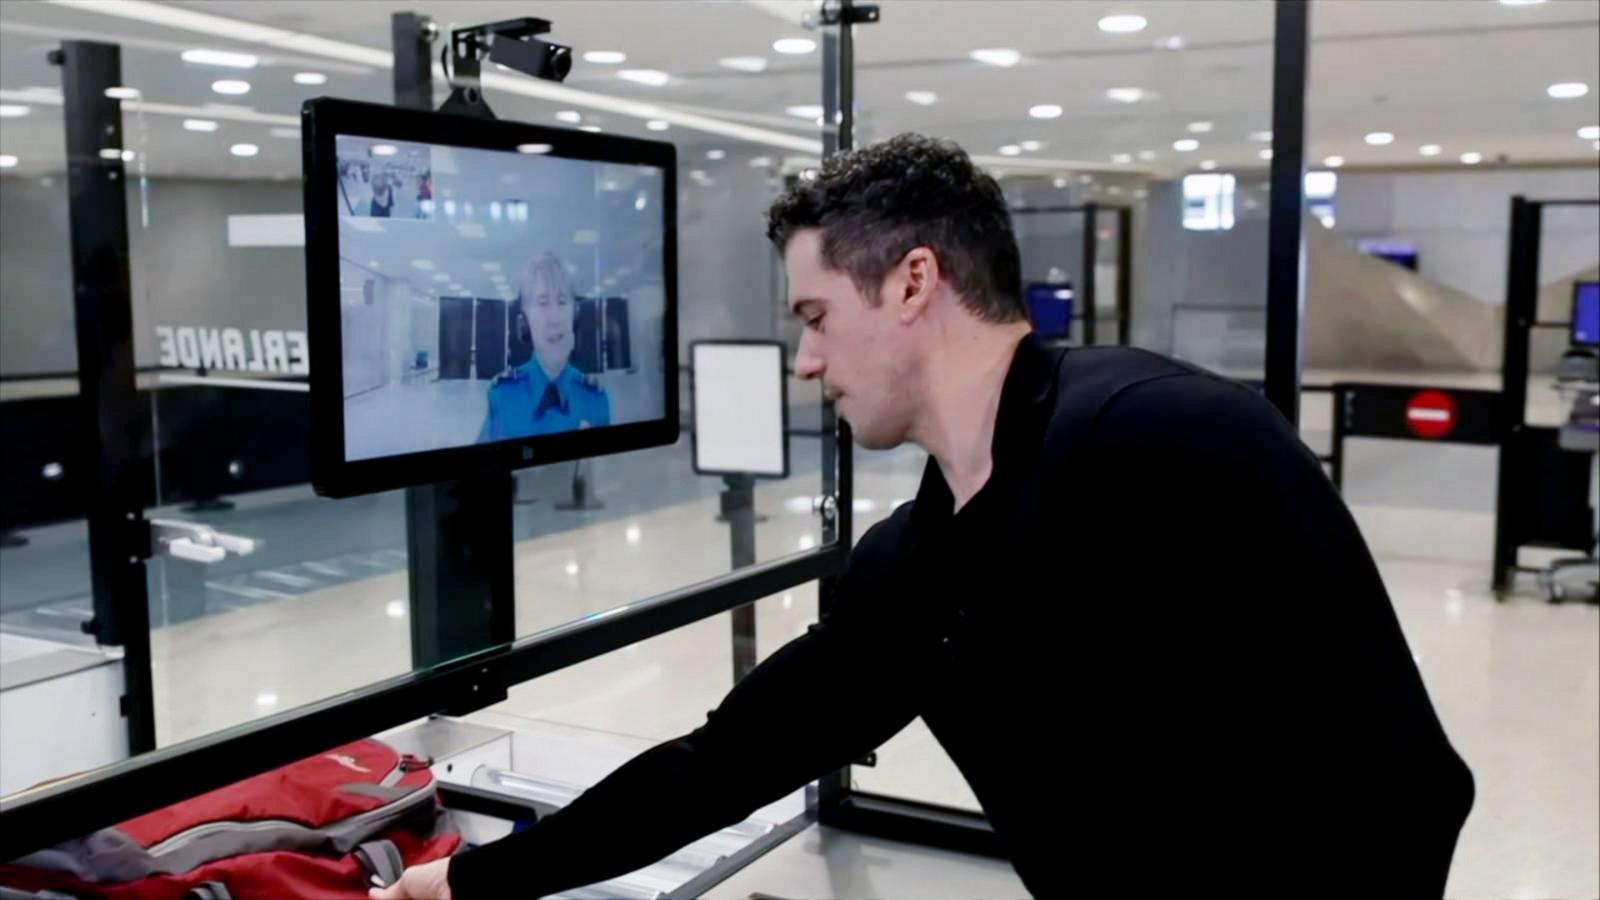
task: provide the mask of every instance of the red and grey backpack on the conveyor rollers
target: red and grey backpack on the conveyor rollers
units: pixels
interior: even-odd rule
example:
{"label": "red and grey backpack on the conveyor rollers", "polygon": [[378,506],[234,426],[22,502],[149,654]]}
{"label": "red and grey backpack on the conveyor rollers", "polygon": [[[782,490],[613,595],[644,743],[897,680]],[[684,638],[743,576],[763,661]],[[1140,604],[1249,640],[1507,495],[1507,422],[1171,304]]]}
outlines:
{"label": "red and grey backpack on the conveyor rollers", "polygon": [[427,762],[368,738],[0,865],[0,897],[360,900],[459,846]]}

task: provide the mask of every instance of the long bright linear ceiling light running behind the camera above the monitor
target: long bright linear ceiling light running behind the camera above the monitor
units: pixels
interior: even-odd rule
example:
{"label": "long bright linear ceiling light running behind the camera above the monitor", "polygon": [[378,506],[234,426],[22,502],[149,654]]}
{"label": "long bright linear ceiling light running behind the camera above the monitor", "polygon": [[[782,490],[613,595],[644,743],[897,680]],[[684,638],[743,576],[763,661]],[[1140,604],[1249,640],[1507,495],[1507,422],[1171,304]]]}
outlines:
{"label": "long bright linear ceiling light running behind the camera above the monitor", "polygon": [[[288,32],[283,29],[256,26],[238,19],[213,16],[210,13],[197,13],[192,10],[168,6],[165,3],[150,3],[149,0],[48,0],[48,2],[58,6],[70,6],[74,10],[86,13],[99,13],[106,16],[115,16],[120,19],[133,19],[147,24],[200,32],[243,43],[290,46],[301,54],[325,56],[330,59],[342,59],[346,62],[358,62],[363,66],[374,66],[381,69],[394,67],[394,54],[386,50],[374,50],[355,43],[346,43],[307,34]],[[437,62],[434,64],[434,77],[443,78],[443,67],[440,67]],[[818,155],[821,155],[822,152],[822,141],[819,139],[806,139],[794,135],[768,131],[765,128],[752,128],[749,125],[722,122],[718,119],[694,115],[690,112],[678,112],[656,104],[638,102],[592,91],[582,91],[578,88],[568,88],[565,85],[557,85],[554,82],[541,82],[534,78],[514,78],[510,75],[485,72],[483,86],[528,98],[552,99],[573,106],[587,106],[590,109],[614,112],[618,115],[630,115],[635,119],[661,119],[674,125],[678,125],[682,128],[693,128],[696,131],[706,131],[709,135],[722,135],[725,138],[736,138],[739,141],[750,141],[755,144],[766,144],[773,147],[784,147],[790,151],[800,151]]]}

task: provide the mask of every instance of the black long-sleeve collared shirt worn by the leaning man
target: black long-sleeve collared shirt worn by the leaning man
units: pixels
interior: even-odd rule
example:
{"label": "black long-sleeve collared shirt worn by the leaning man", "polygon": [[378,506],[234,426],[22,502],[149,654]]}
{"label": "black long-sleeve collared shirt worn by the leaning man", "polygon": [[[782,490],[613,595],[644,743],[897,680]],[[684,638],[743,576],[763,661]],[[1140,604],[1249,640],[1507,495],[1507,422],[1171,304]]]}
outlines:
{"label": "black long-sleeve collared shirt worn by the leaning man", "polygon": [[451,862],[456,900],[645,866],[922,716],[1037,897],[1438,897],[1472,777],[1355,522],[1250,389],[1026,338],[994,471],[851,554],[838,609],[682,738]]}

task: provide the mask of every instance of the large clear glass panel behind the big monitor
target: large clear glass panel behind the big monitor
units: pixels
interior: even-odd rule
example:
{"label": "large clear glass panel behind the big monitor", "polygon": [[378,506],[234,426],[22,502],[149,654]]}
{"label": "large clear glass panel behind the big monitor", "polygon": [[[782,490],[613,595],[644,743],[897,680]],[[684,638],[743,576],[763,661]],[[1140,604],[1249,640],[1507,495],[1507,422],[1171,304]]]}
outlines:
{"label": "large clear glass panel behind the big monitor", "polygon": [[[157,522],[147,586],[163,748],[413,665],[405,492],[334,501],[315,496],[307,484],[310,341],[299,110],[314,96],[392,99],[386,54],[394,13],[432,14],[446,34],[480,22],[462,21],[466,8],[453,3],[197,3],[190,10],[214,18],[195,24],[147,18],[131,6],[45,5],[6,5],[0,14],[6,50],[0,88],[8,104],[0,147],[8,162],[0,178],[8,211],[13,192],[38,192],[64,171],[59,70],[43,62],[43,51],[67,38],[122,45],[125,146],[106,151],[120,157],[126,175],[133,344],[138,365],[147,370],[141,381],[152,447],[147,517]],[[822,535],[816,496],[826,440],[819,391],[790,378],[789,477],[752,485],[698,476],[686,368],[691,341],[779,336],[781,266],[765,239],[763,211],[786,176],[816,165],[819,112],[808,107],[819,104],[821,62],[818,40],[790,54],[776,53],[773,43],[816,35],[800,24],[798,10],[774,14],[755,5],[549,3],[536,13],[552,19],[552,38],[574,48],[574,70],[557,86],[486,67],[486,99],[499,117],[677,146],[685,368],[670,376],[682,384],[685,434],[672,447],[517,474],[518,636],[814,549]],[[485,10],[482,21],[498,18],[504,16]],[[253,26],[293,34],[261,43]],[[669,34],[699,40],[662,40]],[[435,42],[432,54],[443,46]],[[189,53],[197,48],[205,53]],[[614,62],[619,58],[626,64]],[[32,61],[22,66],[24,59]],[[22,96],[14,91],[43,91],[40,98],[53,99],[13,117],[10,104]],[[434,101],[446,94],[435,70]],[[29,138],[35,131],[43,143]],[[53,165],[42,146],[56,147]],[[390,175],[410,187],[405,173]],[[43,364],[26,360],[56,351],[66,356],[51,367],[72,373],[70,317],[40,325],[35,340],[11,352],[21,340],[10,327],[14,312],[54,309],[48,314],[56,319],[62,309],[70,312],[61,303],[66,283],[48,304],[32,295],[21,303],[16,293],[50,283],[40,266],[54,266],[58,280],[67,271],[64,181],[54,191],[53,202],[62,208],[40,207],[27,219],[29,234],[14,227],[22,219],[6,224],[6,375],[13,360],[19,373],[34,373]],[[50,221],[61,223],[61,234],[48,247],[34,247],[35,239],[50,237],[40,227]],[[29,266],[37,277],[22,277],[34,271]],[[506,306],[506,288],[494,282],[475,290],[485,296],[474,299]],[[442,311],[405,312],[421,344],[437,341]],[[418,376],[427,378],[429,367],[419,368]],[[437,362],[434,368],[437,376]],[[498,368],[474,367],[469,380],[486,389],[498,375]],[[8,400],[16,391],[6,383]],[[726,501],[725,493],[731,495]],[[738,525],[720,516],[725,503],[754,504],[752,528],[736,533]],[[24,525],[32,530],[34,524]],[[66,540],[77,540],[74,552],[82,556],[82,527]],[[3,552],[10,562],[13,551]],[[74,585],[29,583],[13,591],[13,581],[27,581],[29,567],[3,569],[8,623],[45,615],[29,612],[40,602],[86,593],[86,559],[51,564],[61,578],[77,578]],[[43,570],[32,567],[35,575]],[[18,617],[13,597],[19,597]],[[728,618],[738,617],[718,621]],[[62,621],[77,628],[78,620]],[[730,652],[736,639],[755,639],[765,649],[768,631],[739,621],[738,636],[723,628]]]}

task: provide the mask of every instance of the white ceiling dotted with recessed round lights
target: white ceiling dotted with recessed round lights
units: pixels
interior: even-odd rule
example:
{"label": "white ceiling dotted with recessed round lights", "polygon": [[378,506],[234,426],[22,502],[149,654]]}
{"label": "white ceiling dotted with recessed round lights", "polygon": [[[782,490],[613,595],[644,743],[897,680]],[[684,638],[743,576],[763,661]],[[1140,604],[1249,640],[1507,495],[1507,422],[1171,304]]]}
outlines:
{"label": "white ceiling dotted with recessed round lights", "polygon": [[[1075,160],[1118,168],[1114,154],[1139,154],[1134,162],[1158,173],[1182,171],[1200,160],[1222,167],[1259,167],[1266,144],[1250,138],[1270,128],[1272,5],[1261,0],[883,0],[883,21],[858,29],[856,90],[859,138],[918,130],[955,138],[974,154],[997,154],[1002,144],[1042,141],[1022,159]],[[624,67],[661,69],[672,83],[650,88],[622,82],[616,67],[579,61],[568,86],[606,98],[693,109],[773,133],[814,139],[816,128],[784,114],[787,106],[816,104],[821,91],[819,53],[779,56],[771,43],[805,37],[795,24],[810,8],[803,0],[709,3],[690,0],[534,0],[534,2],[341,2],[278,0],[272,3],[195,0],[168,8],[202,11],[234,22],[272,26],[347,45],[387,50],[389,16],[411,10],[437,21],[483,22],[538,14],[555,22],[554,38],[584,50],[621,50]],[[123,5],[123,10],[136,10]],[[774,11],[781,14],[774,14]],[[1149,27],[1110,35],[1096,27],[1109,13],[1138,13]],[[786,19],[787,16],[787,19]],[[1181,50],[1162,50],[1166,37]],[[371,64],[328,59],[318,42],[296,38],[262,46],[179,27],[112,16],[93,3],[77,6],[14,2],[0,5],[0,98],[59,83],[45,51],[62,37],[98,37],[125,45],[125,82],[154,104],[198,107],[208,102],[248,106],[282,120],[224,120],[216,133],[181,128],[181,115],[130,115],[128,146],[144,151],[154,175],[213,178],[293,178],[299,144],[270,136],[288,123],[302,99],[339,94],[387,101],[390,75]],[[1547,0],[1506,6],[1494,0],[1314,0],[1309,147],[1314,160],[1338,154],[1349,165],[1458,165],[1464,151],[1512,163],[1592,165],[1597,154],[1576,136],[1600,120],[1600,0]],[[262,66],[238,70],[192,66],[178,59],[190,46],[248,50]],[[435,45],[437,46],[437,45]],[[1011,46],[1022,62],[1000,69],[971,61],[981,46]],[[766,56],[762,74],[718,67],[725,56]],[[328,74],[320,88],[299,86],[291,74]],[[211,93],[216,78],[242,77],[245,98]],[[1546,96],[1554,82],[1586,82],[1579,99]],[[1114,86],[1139,86],[1154,99],[1118,104]],[[933,106],[907,102],[906,91],[934,91]],[[608,131],[664,136],[699,154],[728,147],[736,155],[794,154],[762,141],[741,141],[674,127],[648,133],[638,119],[594,110],[584,104],[490,93],[502,117],[554,123],[554,112],[581,109],[586,122]],[[1064,115],[1032,120],[1034,104],[1059,104]],[[27,102],[21,119],[0,120],[0,152],[21,163],[10,173],[62,167],[61,110]],[[238,114],[243,119],[259,119]],[[1213,123],[1190,135],[1194,120]],[[1387,147],[1363,143],[1368,131],[1392,131]],[[1178,152],[1173,141],[1195,138],[1200,149]],[[229,155],[234,143],[254,143],[254,159]],[[1421,144],[1442,144],[1434,159]]]}

